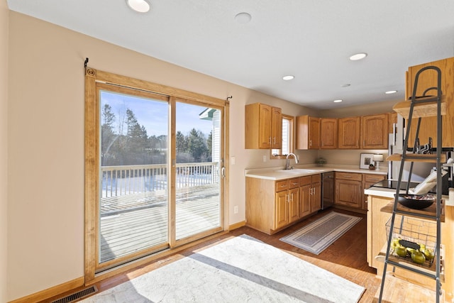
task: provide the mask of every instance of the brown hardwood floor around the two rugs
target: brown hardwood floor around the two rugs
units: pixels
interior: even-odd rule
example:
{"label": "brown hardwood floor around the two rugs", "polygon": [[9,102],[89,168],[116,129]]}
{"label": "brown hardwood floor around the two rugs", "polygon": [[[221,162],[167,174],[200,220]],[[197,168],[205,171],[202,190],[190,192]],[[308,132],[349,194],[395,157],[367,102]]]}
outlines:
{"label": "brown hardwood floor around the two rugs", "polygon": [[[95,285],[98,288],[99,292],[102,292],[103,290],[107,290],[111,287],[121,284],[122,282],[131,280],[134,277],[143,275],[146,272],[150,272],[151,270],[160,268],[161,266],[167,265],[168,263],[171,263],[175,260],[184,258],[187,255],[196,253],[199,250],[203,250],[204,248],[213,246],[220,241],[224,241],[228,238],[232,238],[235,236],[240,236],[242,234],[247,234],[248,236],[258,238],[260,241],[275,246],[276,248],[287,251],[287,253],[291,253],[292,255],[295,255],[298,258],[301,258],[302,260],[306,260],[314,265],[317,265],[320,268],[324,268],[330,272],[333,272],[336,275],[344,277],[345,279],[350,280],[351,282],[355,282],[358,285],[362,285],[363,287],[366,288],[366,290],[365,293],[362,294],[360,302],[361,303],[372,302],[373,297],[377,292],[377,289],[380,288],[380,280],[377,277],[375,277],[376,274],[375,269],[370,268],[367,265],[366,260],[367,220],[364,214],[357,214],[352,213],[350,211],[335,209],[336,211],[341,213],[361,216],[362,220],[359,221],[358,224],[353,226],[353,228],[351,228],[350,231],[341,236],[341,238],[339,238],[335,243],[326,248],[326,250],[323,250],[323,252],[320,253],[320,255],[314,255],[313,253],[309,253],[306,250],[301,250],[287,243],[279,241],[279,238],[281,238],[282,236],[285,236],[293,231],[296,231],[298,228],[301,228],[301,226],[304,226],[306,224],[311,223],[312,221],[315,221],[316,219],[319,219],[321,216],[323,216],[323,214],[326,214],[332,210],[333,209],[326,209],[324,211],[320,211],[319,214],[311,216],[309,219],[301,221],[298,224],[295,224],[294,226],[291,226],[285,229],[284,231],[280,231],[279,233],[275,233],[272,236],[269,236],[260,231],[255,231],[253,228],[243,226],[229,233],[225,233],[221,236],[216,236],[215,238],[211,238],[210,240],[203,241],[199,244],[196,244],[195,246],[192,246],[191,248],[181,250],[178,253],[167,255],[166,257],[155,260],[153,263],[150,263],[148,265],[135,268],[134,270],[124,272],[123,274],[116,275],[115,277],[107,278],[106,280],[98,282]],[[74,291],[78,290],[79,289]],[[71,294],[72,292],[68,292],[68,294]],[[60,295],[58,298],[60,297],[62,296]],[[43,302],[52,302],[52,300],[54,299],[57,299],[57,297],[51,298]]]}

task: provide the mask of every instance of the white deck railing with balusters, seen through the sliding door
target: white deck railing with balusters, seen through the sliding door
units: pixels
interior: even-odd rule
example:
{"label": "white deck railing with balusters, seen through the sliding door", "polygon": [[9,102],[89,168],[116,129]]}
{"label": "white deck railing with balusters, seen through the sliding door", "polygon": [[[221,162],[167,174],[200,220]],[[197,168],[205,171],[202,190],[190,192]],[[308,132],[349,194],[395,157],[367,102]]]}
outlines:
{"label": "white deck railing with balusters, seen through the sliding door", "polygon": [[[218,162],[177,164],[176,187],[193,187],[219,182]],[[101,197],[155,192],[167,189],[167,165],[124,165],[101,167]]]}

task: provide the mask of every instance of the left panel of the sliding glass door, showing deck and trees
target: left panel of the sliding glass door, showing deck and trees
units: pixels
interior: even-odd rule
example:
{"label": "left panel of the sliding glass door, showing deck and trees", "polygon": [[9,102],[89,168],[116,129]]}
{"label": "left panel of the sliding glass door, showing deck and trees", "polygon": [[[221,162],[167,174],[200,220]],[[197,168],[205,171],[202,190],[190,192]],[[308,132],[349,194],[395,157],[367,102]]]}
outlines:
{"label": "left panel of the sliding glass door, showing deck and trees", "polygon": [[[101,85],[102,87],[102,85]],[[168,98],[99,89],[98,268],[168,247]]]}

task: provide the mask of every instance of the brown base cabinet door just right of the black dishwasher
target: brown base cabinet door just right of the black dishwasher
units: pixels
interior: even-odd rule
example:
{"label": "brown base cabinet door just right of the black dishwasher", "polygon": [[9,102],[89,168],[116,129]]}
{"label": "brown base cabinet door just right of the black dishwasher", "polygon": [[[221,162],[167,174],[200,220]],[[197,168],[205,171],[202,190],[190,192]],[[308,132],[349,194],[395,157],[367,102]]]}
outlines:
{"label": "brown base cabinet door just right of the black dishwasher", "polygon": [[353,180],[336,180],[336,204],[361,208],[362,182]]}

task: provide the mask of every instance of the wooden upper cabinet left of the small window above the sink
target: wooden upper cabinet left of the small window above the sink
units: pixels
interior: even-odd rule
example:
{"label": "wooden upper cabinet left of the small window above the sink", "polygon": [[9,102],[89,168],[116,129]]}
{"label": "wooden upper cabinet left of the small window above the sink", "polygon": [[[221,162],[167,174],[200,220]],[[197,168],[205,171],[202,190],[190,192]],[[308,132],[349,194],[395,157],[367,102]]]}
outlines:
{"label": "wooden upper cabinet left of the small window above the sink", "polygon": [[282,148],[282,111],[254,103],[245,106],[245,148]]}

